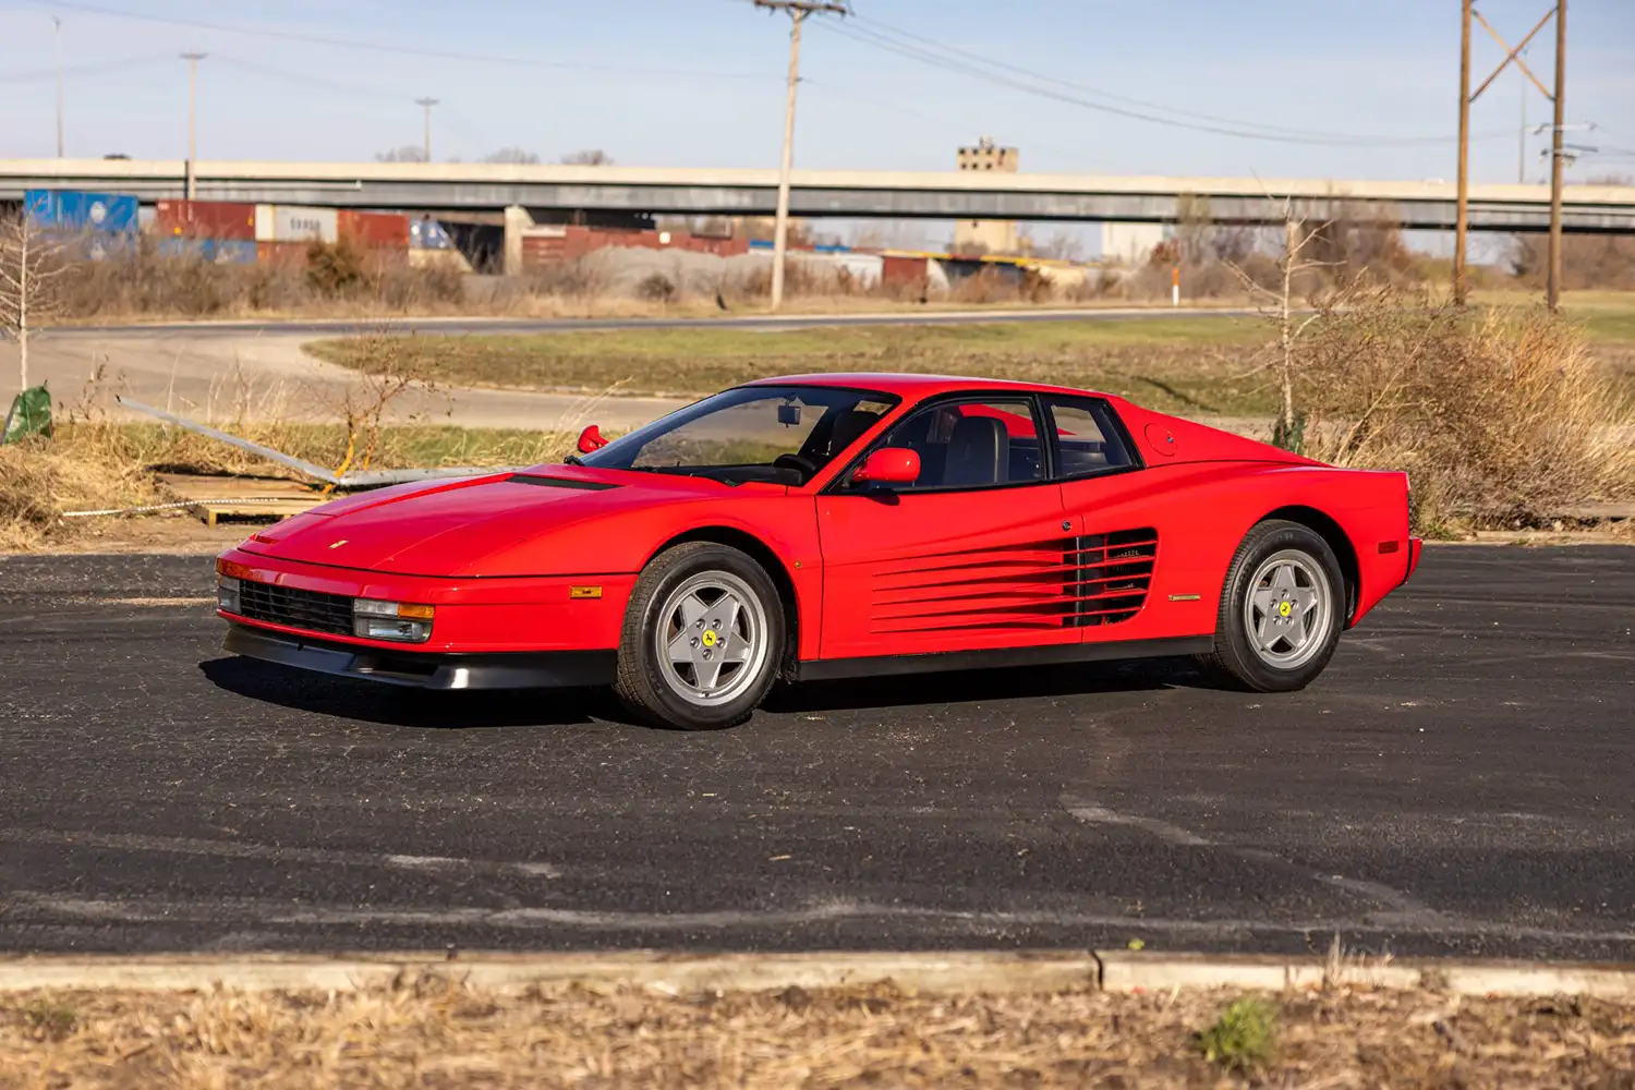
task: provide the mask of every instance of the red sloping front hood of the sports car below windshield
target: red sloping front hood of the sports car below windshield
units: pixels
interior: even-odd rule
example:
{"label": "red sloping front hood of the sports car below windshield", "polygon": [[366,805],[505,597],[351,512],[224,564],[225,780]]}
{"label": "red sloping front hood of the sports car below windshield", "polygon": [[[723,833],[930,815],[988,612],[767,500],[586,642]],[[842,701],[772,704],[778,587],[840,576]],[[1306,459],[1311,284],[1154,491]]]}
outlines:
{"label": "red sloping front hood of the sports car below windshield", "polygon": [[240,549],[399,575],[602,572],[611,569],[594,556],[540,554],[538,570],[530,572],[494,572],[482,561],[587,520],[664,503],[719,502],[732,492],[698,477],[538,466],[363,492],[270,526]]}

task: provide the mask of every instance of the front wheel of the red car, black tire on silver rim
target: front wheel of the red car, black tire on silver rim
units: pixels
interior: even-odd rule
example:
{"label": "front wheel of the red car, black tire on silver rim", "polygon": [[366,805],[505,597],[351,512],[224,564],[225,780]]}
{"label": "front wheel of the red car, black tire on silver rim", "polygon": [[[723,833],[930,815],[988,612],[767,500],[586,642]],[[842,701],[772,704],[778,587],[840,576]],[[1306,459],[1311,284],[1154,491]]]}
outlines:
{"label": "front wheel of the red car, black tire on silver rim", "polygon": [[[714,601],[726,603],[723,613],[731,603],[744,600],[731,611],[739,618],[734,631],[754,634],[739,636],[749,647],[744,652],[746,662],[737,667],[731,681],[718,678],[714,696],[708,695],[708,690],[697,688],[697,683],[703,681],[703,675],[697,670],[708,665],[697,662],[672,665],[670,655],[661,655],[657,647],[661,626],[665,639],[690,636],[688,629],[674,628],[675,618],[685,610],[675,595],[682,593],[685,598],[683,588],[700,582],[701,596],[695,595],[693,603],[703,603],[713,587],[721,587],[723,596]],[[710,610],[713,611],[713,606]],[[700,616],[703,624],[724,619],[724,616]],[[724,660],[732,647],[729,637],[716,636],[716,629],[705,632],[703,626],[698,631],[700,637],[719,641],[710,646],[719,649]],[[705,655],[698,639],[692,644],[698,647],[700,655]],[[656,726],[682,730],[736,727],[754,714],[777,680],[783,662],[783,600],[760,564],[746,552],[710,541],[680,544],[654,557],[636,579],[625,613],[613,691],[626,708]],[[726,673],[734,665],[737,663],[723,662],[716,670]],[[688,675],[693,683],[688,683]]]}

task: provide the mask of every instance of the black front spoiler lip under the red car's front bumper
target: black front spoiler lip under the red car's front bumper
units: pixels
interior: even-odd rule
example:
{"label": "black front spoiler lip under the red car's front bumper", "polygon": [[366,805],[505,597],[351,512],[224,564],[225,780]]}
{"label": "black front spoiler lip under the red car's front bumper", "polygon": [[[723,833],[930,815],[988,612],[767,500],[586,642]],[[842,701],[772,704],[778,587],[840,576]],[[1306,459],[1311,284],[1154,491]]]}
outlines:
{"label": "black front spoiler lip under the red car's front bumper", "polygon": [[360,681],[422,690],[522,690],[613,685],[615,650],[455,655],[389,652],[231,624],[222,647],[235,655]]}

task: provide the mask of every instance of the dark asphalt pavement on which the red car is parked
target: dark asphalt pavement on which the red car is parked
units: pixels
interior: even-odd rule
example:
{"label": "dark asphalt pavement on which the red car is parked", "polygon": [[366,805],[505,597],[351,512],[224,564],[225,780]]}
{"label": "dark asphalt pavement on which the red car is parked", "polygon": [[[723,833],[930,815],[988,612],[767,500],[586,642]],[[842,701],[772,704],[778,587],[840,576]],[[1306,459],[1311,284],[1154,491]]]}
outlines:
{"label": "dark asphalt pavement on which the red car is parked", "polygon": [[1635,551],[1434,547],[1292,696],[1179,665],[595,695],[226,659],[199,557],[0,561],[0,948],[1635,958]]}

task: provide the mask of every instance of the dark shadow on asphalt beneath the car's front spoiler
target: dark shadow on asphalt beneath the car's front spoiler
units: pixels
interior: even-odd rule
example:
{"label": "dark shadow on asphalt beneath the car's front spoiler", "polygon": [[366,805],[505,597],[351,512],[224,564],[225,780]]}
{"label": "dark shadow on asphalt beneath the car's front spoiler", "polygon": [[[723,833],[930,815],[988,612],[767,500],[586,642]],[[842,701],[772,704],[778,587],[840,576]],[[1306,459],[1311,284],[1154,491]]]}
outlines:
{"label": "dark shadow on asphalt beneath the car's front spoiler", "polygon": [[217,688],[249,699],[391,727],[459,730],[623,721],[611,695],[598,690],[428,693],[239,657],[201,662],[199,672]]}

